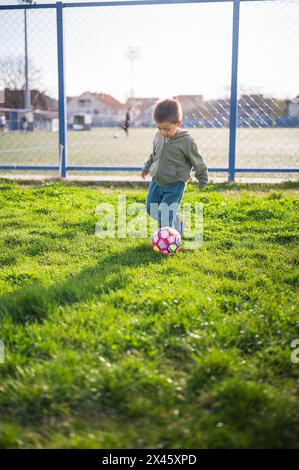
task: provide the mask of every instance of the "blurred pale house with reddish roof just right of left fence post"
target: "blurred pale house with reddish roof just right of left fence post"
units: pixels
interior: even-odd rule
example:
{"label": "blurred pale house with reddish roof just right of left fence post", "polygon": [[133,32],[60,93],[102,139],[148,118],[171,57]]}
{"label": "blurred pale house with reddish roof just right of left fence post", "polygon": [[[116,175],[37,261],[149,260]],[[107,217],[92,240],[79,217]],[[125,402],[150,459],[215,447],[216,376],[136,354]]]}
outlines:
{"label": "blurred pale house with reddish roof just right of left fence post", "polygon": [[117,126],[125,118],[127,106],[111,95],[86,91],[67,98],[67,120],[73,122],[78,114],[91,115],[93,127]]}

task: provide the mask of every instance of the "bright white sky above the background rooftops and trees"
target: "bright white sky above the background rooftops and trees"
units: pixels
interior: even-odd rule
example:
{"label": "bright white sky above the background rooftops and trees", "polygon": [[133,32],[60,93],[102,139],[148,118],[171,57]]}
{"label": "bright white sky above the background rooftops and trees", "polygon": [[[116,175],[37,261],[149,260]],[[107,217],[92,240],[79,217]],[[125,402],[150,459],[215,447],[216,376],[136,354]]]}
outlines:
{"label": "bright white sky above the background rooftops and trees", "polygon": [[[67,96],[89,90],[125,102],[132,88],[136,97],[229,96],[232,2],[66,8],[64,18]],[[242,2],[239,94],[299,95],[298,24],[297,0]],[[23,27],[22,11],[0,11],[0,57],[24,55]],[[133,73],[130,47],[140,51]],[[28,51],[57,97],[55,11],[28,12]]]}

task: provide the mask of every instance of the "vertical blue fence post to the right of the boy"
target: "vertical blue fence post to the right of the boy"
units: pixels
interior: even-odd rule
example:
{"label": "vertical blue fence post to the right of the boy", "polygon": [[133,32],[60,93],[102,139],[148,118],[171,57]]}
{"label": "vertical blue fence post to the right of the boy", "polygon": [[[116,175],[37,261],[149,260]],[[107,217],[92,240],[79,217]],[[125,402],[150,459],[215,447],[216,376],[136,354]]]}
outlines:
{"label": "vertical blue fence post to the right of the boy", "polygon": [[229,122],[229,159],[228,181],[235,180],[236,168],[236,127],[238,113],[238,52],[239,52],[239,14],[240,0],[234,0],[233,6],[233,41],[232,41],[232,75],[230,90],[230,122]]}

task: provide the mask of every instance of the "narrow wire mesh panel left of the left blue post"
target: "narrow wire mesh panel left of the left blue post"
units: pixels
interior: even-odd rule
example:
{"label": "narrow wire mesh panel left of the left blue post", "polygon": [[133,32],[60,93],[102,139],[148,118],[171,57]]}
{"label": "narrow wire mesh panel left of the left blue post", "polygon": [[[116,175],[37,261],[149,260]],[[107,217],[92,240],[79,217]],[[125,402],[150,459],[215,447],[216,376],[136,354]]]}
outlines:
{"label": "narrow wire mesh panel left of the left blue post", "polygon": [[58,166],[56,11],[0,10],[0,30],[0,165]]}

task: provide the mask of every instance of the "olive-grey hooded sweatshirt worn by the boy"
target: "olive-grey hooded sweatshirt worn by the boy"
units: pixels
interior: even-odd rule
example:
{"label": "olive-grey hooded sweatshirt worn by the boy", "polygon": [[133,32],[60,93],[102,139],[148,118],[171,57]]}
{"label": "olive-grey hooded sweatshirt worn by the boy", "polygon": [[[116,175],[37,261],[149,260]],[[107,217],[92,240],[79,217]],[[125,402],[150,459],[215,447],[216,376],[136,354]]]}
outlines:
{"label": "olive-grey hooded sweatshirt worn by the boy", "polygon": [[160,132],[157,132],[153,152],[143,170],[155,177],[160,186],[165,186],[177,181],[187,181],[192,167],[195,169],[199,188],[204,188],[208,183],[208,169],[191,134],[180,130],[166,142]]}

